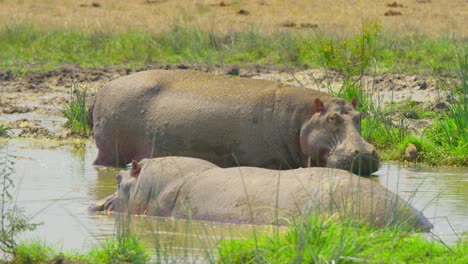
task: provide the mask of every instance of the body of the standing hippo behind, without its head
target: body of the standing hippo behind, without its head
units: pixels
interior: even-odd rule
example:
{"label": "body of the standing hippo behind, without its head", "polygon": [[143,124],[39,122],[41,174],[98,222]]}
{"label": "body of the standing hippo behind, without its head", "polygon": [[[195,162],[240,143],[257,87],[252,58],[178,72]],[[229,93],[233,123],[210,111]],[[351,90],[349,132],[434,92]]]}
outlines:
{"label": "body of the standing hippo behind, without its head", "polygon": [[[144,71],[105,85],[94,103],[95,164],[186,156],[219,166],[299,167],[311,89],[195,71]],[[116,160],[117,159],[117,160]]]}

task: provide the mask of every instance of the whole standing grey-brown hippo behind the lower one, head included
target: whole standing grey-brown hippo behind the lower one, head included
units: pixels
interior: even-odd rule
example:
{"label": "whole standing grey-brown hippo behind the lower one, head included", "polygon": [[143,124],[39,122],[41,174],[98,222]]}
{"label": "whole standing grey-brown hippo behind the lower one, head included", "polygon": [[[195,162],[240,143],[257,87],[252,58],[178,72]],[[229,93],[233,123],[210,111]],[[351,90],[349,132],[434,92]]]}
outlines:
{"label": "whole standing grey-brown hippo behind the lower one, head included", "polygon": [[[276,82],[151,70],[105,85],[90,108],[94,164],[185,156],[221,167],[376,171],[360,113],[332,95]],[[310,159],[310,162],[308,162]]]}

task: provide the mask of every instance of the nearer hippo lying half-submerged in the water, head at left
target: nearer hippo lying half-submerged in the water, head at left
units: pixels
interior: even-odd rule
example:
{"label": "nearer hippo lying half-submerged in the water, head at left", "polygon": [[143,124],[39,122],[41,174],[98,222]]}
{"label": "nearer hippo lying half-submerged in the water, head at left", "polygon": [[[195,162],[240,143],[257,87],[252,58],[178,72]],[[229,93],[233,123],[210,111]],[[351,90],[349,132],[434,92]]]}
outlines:
{"label": "nearer hippo lying half-submerged in the water, head at left", "polygon": [[374,226],[432,228],[397,194],[341,169],[221,168],[195,158],[163,157],[133,161],[117,178],[117,192],[91,205],[91,211],[277,225],[320,214]]}

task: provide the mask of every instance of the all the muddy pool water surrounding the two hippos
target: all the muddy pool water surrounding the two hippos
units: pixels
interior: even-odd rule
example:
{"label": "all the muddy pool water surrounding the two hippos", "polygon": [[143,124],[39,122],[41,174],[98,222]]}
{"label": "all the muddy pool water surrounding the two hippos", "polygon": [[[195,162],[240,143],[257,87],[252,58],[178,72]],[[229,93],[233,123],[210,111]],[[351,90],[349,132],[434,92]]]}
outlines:
{"label": "all the muddy pool water surrounding the two hippos", "polygon": [[[43,222],[22,239],[41,238],[63,249],[85,251],[114,233],[117,215],[92,214],[88,205],[115,191],[115,169],[91,165],[92,144],[74,146],[53,141],[0,141],[2,152],[14,155],[16,203]],[[411,198],[434,224],[434,233],[447,242],[468,230],[468,168],[402,168],[385,164],[373,180]],[[193,254],[219,237],[252,234],[250,226],[136,217],[137,230],[148,241],[159,238],[163,247]],[[156,231],[156,232],[154,232]],[[270,232],[271,230],[263,230]],[[197,254],[195,254],[197,255]]]}

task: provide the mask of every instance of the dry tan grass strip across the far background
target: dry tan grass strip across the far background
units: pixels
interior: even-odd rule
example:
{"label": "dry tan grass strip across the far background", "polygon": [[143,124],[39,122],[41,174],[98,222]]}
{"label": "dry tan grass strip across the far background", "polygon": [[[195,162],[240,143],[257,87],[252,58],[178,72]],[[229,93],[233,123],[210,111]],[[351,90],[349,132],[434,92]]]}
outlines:
{"label": "dry tan grass strip across the far background", "polygon": [[[32,23],[85,31],[165,31],[174,23],[214,32],[256,28],[320,30],[332,34],[360,29],[363,19],[383,31],[430,36],[468,36],[466,0],[0,0],[0,25]],[[391,7],[397,6],[397,7]],[[239,12],[244,10],[246,12]],[[392,11],[392,12],[389,12]],[[401,15],[385,16],[385,13]],[[294,25],[294,27],[284,25]],[[316,27],[317,26],[317,27]]]}

